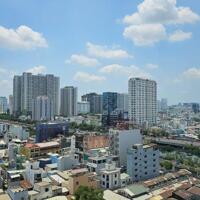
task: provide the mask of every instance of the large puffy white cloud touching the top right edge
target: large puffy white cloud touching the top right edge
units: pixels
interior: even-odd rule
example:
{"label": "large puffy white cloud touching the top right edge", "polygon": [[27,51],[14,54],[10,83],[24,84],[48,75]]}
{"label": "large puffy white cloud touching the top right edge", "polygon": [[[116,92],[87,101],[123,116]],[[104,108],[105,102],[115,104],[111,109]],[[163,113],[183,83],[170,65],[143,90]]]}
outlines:
{"label": "large puffy white cloud touching the top right edge", "polygon": [[137,12],[126,15],[126,24],[185,24],[195,23],[200,16],[189,7],[177,7],[176,0],[144,0]]}

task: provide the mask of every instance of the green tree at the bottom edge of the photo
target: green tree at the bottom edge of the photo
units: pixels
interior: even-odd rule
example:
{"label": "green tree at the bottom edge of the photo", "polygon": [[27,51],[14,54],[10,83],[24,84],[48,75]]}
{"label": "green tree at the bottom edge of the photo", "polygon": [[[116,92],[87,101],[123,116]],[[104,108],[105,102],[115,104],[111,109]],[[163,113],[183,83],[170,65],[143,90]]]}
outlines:
{"label": "green tree at the bottom edge of the photo", "polygon": [[80,186],[74,196],[75,200],[103,200],[103,191],[92,187]]}

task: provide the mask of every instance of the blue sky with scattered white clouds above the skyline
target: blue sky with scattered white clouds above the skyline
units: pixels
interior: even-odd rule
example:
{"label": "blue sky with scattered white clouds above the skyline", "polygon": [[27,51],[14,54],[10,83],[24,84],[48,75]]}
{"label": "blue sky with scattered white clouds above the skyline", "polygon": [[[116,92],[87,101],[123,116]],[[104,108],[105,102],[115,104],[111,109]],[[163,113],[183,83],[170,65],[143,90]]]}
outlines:
{"label": "blue sky with scattered white clouds above the skyline", "polygon": [[61,87],[127,92],[132,76],[157,81],[158,98],[200,102],[198,0],[1,0],[0,95],[24,71]]}

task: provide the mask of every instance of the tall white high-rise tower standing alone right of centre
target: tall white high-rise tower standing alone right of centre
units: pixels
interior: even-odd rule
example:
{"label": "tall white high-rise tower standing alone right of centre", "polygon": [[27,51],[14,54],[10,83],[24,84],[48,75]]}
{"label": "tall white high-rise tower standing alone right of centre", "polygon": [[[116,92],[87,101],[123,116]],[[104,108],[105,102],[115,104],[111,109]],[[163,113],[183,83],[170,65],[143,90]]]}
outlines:
{"label": "tall white high-rise tower standing alone right of centre", "polygon": [[157,84],[153,80],[131,78],[129,90],[129,120],[136,124],[156,123]]}

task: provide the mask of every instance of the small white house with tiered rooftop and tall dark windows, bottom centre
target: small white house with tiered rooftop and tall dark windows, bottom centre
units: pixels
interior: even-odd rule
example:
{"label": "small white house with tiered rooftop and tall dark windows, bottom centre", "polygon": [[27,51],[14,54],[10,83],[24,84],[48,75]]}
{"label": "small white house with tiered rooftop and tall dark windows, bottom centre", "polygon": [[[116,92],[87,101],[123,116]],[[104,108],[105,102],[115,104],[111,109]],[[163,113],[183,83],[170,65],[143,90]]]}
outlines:
{"label": "small white house with tiered rooftop and tall dark windows, bottom centre", "polygon": [[115,189],[120,187],[120,168],[116,167],[115,162],[109,161],[105,168],[100,172],[100,184],[104,189]]}

